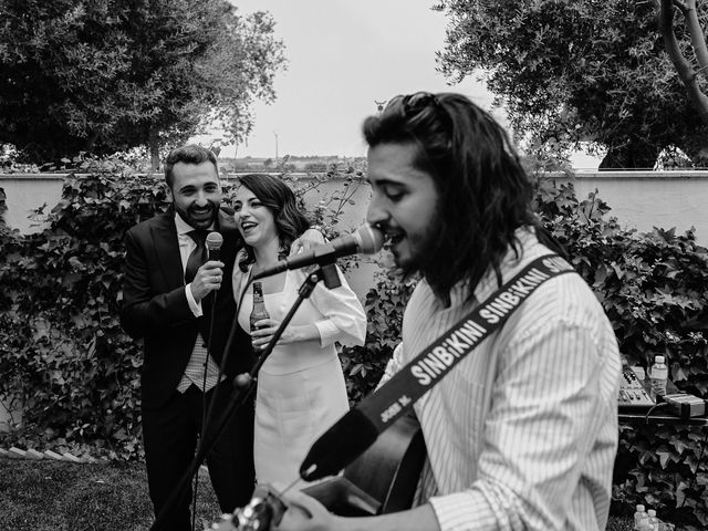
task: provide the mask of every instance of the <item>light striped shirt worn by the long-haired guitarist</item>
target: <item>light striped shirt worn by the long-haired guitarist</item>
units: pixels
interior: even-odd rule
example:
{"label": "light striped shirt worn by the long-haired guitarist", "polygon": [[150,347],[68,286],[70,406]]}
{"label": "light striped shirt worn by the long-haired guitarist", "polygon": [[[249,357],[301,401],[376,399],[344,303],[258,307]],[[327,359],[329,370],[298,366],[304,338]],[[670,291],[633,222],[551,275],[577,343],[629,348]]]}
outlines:
{"label": "light striped shirt worn by the long-haired guitarist", "polygon": [[[508,253],[504,281],[550,252],[531,231],[517,236],[522,256]],[[488,273],[476,301],[497,288]],[[466,293],[455,287],[446,309],[417,285],[384,378],[471,311]],[[620,376],[612,325],[587,284],[574,273],[546,281],[415,405],[428,452],[418,501],[442,531],[604,530]]]}

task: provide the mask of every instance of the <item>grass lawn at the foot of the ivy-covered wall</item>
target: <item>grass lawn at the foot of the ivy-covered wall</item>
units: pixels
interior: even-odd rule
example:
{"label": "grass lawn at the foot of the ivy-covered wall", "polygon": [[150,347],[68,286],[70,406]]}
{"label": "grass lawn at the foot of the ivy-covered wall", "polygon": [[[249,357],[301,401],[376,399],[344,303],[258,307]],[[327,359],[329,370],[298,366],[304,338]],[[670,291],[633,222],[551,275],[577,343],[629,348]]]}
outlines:
{"label": "grass lawn at the foot of the ivy-covered wall", "polygon": [[[219,517],[206,473],[199,478],[197,529]],[[147,531],[153,508],[142,464],[74,465],[0,459],[0,530]],[[610,518],[607,531],[632,531]]]}

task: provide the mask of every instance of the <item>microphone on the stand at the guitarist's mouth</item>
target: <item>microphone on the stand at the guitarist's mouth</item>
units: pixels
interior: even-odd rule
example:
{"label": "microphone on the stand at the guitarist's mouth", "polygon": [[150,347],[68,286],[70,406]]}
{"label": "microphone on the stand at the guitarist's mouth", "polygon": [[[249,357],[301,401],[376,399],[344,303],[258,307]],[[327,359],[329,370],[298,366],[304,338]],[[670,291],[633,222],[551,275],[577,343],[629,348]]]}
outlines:
{"label": "microphone on the stand at the guitarist's mouth", "polygon": [[382,247],[384,247],[384,233],[371,225],[362,225],[351,235],[341,236],[329,243],[310,249],[308,252],[280,260],[274,266],[253,275],[253,280],[270,277],[287,269],[300,269],[314,264],[325,266],[347,254],[373,254],[378,252]]}

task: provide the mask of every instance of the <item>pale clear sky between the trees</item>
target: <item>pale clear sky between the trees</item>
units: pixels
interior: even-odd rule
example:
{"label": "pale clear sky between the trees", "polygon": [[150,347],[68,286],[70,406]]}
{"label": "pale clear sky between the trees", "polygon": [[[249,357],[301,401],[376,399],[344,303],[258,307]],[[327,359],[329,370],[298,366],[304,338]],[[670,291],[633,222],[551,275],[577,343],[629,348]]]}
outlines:
{"label": "pale clear sky between the trees", "polygon": [[[241,14],[268,11],[285,45],[288,67],[275,76],[277,98],[257,102],[247,143],[227,146],[221,157],[366,155],[361,135],[376,102],[417,91],[459,92],[507,125],[492,108],[483,81],[451,84],[438,72],[447,19],[434,0],[230,0]],[[206,144],[214,136],[197,137]],[[597,162],[577,155],[576,167]]]}

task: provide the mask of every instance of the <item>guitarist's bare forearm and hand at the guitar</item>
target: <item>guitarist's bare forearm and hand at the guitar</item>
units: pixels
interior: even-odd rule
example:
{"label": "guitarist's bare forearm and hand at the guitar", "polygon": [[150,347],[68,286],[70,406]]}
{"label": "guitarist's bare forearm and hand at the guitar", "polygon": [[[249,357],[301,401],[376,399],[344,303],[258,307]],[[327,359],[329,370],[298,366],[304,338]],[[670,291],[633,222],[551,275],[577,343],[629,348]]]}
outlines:
{"label": "guitarist's bare forearm and hand at the guitar", "polygon": [[433,508],[420,506],[409,511],[381,517],[344,518],[332,514],[314,498],[298,491],[283,496],[288,510],[273,531],[439,531]]}

